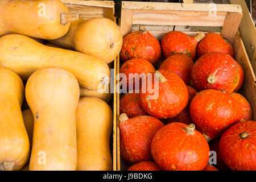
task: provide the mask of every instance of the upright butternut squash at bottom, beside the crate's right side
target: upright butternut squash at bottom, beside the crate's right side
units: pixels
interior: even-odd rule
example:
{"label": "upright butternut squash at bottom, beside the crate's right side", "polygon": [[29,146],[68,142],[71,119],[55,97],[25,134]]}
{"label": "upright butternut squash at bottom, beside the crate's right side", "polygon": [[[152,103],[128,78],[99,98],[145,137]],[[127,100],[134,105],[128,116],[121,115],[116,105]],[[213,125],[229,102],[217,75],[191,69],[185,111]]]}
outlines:
{"label": "upright butternut squash at bottom, beside the crate's right side", "polygon": [[113,113],[97,97],[81,97],[76,110],[77,170],[112,170],[110,134]]}

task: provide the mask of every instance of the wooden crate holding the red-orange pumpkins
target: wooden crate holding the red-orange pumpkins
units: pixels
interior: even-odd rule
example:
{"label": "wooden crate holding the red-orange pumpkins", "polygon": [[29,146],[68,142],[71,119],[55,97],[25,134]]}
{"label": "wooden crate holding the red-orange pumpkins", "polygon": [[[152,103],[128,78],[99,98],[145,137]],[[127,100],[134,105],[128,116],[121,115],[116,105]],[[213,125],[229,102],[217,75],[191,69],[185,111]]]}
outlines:
{"label": "wooden crate holding the red-orange pumpkins", "polygon": [[[216,5],[216,11],[208,4],[185,4],[185,3],[156,3],[156,2],[122,2],[121,9],[121,32],[125,36],[132,30],[133,25],[155,25],[158,31],[151,31],[159,41],[166,31],[162,26],[209,26],[222,27],[220,34],[233,44],[235,59],[245,72],[245,82],[241,93],[247,98],[254,109],[256,120],[256,85],[255,74],[243,45],[238,27],[242,18],[240,5]],[[210,13],[209,13],[210,12]],[[215,15],[215,16],[212,16]],[[188,35],[196,35],[196,32],[185,32]],[[119,57],[117,59],[117,73],[119,73]],[[117,88],[119,83],[117,82]],[[117,119],[119,121],[119,94],[117,94]],[[118,126],[118,124],[117,124]],[[119,128],[117,128],[117,168],[127,169],[127,165],[120,156]]]}

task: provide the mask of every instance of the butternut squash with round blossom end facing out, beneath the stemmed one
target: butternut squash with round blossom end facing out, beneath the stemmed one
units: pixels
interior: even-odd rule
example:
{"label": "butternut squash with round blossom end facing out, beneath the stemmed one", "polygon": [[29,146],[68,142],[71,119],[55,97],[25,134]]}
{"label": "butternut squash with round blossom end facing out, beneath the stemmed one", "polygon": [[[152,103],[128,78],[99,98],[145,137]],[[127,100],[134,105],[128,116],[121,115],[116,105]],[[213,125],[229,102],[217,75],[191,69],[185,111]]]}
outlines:
{"label": "butternut squash with round blossom end facing out, beneath the stemmed one", "polygon": [[49,41],[111,63],[121,51],[123,38],[117,24],[108,18],[98,17],[76,20],[71,23],[66,35]]}

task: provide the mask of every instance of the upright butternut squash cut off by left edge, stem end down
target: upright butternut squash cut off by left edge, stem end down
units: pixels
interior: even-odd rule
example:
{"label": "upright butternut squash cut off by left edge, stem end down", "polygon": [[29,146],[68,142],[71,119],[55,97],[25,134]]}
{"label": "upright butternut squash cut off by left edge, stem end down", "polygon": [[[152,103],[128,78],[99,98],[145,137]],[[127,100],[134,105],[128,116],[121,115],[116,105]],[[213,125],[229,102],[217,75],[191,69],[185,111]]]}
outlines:
{"label": "upright butternut squash cut off by left edge, stem end down", "polygon": [[0,67],[0,170],[19,170],[29,157],[30,143],[20,109],[23,97],[20,77]]}

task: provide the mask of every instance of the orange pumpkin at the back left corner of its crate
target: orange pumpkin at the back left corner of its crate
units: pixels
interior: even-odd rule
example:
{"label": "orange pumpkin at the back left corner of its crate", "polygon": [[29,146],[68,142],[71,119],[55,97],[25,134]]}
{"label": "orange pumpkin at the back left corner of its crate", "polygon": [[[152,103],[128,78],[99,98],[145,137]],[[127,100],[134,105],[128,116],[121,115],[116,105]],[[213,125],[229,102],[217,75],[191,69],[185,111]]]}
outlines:
{"label": "orange pumpkin at the back left corner of its crate", "polygon": [[122,61],[142,58],[155,65],[161,57],[160,43],[146,28],[139,27],[139,31],[131,32],[123,38],[120,57]]}

